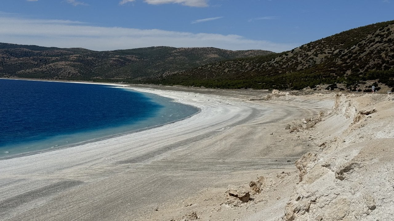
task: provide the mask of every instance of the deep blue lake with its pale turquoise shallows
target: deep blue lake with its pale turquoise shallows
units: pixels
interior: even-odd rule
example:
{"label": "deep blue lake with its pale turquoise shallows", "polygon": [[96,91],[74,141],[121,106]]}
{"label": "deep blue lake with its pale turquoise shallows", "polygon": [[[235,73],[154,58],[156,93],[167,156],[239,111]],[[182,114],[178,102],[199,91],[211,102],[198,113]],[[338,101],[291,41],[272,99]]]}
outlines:
{"label": "deep blue lake with its pale turquoise shallows", "polygon": [[0,158],[128,133],[197,111],[108,85],[0,79]]}

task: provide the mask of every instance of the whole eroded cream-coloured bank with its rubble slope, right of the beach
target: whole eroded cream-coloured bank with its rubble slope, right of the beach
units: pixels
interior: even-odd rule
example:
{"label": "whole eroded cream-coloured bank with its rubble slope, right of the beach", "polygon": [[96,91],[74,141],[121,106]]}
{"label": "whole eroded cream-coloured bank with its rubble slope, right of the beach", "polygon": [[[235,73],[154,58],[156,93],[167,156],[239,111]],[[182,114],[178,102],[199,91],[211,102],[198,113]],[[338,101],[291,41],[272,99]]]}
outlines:
{"label": "whole eroded cream-coloured bank with its rubble slope, right of the beach", "polygon": [[260,165],[231,173],[212,188],[177,204],[158,206],[140,220],[392,220],[394,96],[295,94],[299,93],[273,91],[240,98],[258,105],[321,111],[313,116],[305,112],[287,124],[277,122],[272,133],[264,134],[269,148],[281,151],[279,155],[296,145],[290,152],[304,151],[301,158],[287,163],[283,159],[275,168]]}

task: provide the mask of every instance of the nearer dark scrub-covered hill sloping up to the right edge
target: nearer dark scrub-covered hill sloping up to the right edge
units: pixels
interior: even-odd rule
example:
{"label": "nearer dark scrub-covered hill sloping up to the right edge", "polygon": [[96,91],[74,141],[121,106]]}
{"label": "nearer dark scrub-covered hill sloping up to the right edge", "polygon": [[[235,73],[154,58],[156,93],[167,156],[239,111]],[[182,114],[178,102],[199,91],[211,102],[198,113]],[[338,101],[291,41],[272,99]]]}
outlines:
{"label": "nearer dark scrub-covered hill sloping up to the right edge", "polygon": [[379,79],[394,87],[394,21],[351,29],[288,52],[220,61],[152,82],[211,88],[301,89]]}

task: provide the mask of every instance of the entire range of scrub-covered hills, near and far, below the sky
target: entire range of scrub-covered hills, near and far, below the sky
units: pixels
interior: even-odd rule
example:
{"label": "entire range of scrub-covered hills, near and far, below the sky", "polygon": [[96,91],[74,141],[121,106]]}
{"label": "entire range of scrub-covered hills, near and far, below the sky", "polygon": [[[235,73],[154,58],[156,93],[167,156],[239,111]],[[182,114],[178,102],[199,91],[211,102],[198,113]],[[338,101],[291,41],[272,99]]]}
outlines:
{"label": "entire range of scrub-covered hills, near and far, below the sky", "polygon": [[394,90],[394,20],[282,53],[165,46],[97,52],[0,43],[0,77],[294,90],[335,83],[355,90],[376,80]]}

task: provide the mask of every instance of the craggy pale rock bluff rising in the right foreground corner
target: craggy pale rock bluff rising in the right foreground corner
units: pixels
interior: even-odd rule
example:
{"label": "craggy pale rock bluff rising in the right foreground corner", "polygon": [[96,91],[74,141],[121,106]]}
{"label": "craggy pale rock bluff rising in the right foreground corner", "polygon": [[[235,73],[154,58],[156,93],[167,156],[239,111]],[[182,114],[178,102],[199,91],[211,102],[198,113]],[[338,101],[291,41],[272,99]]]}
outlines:
{"label": "craggy pale rock bluff rising in the right foreground corner", "polygon": [[388,102],[383,95],[336,95],[332,114],[313,128],[326,130],[314,142],[320,152],[296,161],[300,182],[282,221],[392,220],[394,105]]}

